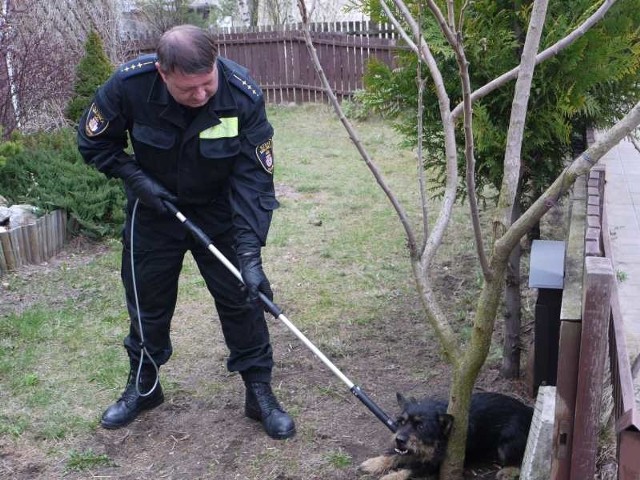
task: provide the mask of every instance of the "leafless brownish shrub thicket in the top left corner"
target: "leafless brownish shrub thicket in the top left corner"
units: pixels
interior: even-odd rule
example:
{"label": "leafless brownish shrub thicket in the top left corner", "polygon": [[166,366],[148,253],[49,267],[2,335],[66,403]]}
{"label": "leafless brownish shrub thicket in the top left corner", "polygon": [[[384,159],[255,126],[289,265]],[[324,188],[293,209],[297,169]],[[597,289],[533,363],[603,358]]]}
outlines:
{"label": "leafless brownish shrub thicket in the top left corner", "polygon": [[5,133],[66,124],[64,109],[88,31],[95,28],[108,40],[113,61],[121,58],[116,7],[116,0],[2,0],[0,124]]}

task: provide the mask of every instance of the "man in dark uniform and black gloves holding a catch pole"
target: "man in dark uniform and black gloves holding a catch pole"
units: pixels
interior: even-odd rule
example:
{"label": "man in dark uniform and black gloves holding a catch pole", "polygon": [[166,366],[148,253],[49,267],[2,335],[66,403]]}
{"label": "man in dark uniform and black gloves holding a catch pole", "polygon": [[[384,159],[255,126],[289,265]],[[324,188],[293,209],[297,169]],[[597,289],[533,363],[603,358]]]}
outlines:
{"label": "man in dark uniform and black gloves holding a catch pole", "polygon": [[[133,155],[125,152],[127,135]],[[262,92],[247,70],[218,57],[208,32],[192,25],[162,35],[157,55],[121,66],[80,120],[85,161],[123,179],[127,193],[121,272],[131,370],[103,427],[127,425],[164,400],[158,368],[172,353],[171,318],[189,250],[215,300],[227,367],[245,383],[245,414],[273,438],[295,434],[271,390],[272,350],[259,301],[260,292],[273,298],[261,261],[278,206],[272,135]],[[165,200],[239,267],[244,287],[179,225]]]}

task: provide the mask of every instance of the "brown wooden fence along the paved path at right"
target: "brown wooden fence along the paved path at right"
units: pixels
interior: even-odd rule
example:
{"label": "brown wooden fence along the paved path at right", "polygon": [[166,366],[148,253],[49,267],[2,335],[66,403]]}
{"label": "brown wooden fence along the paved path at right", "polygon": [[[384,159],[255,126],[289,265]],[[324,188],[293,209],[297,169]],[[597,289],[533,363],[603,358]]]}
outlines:
{"label": "brown wooden fence along the paved path at right", "polygon": [[[594,478],[606,367],[618,478],[640,479],[640,417],[625,346],[604,207],[604,167],[574,186],[560,315],[552,480]],[[607,357],[608,351],[608,357]],[[608,360],[608,363],[607,363]]]}

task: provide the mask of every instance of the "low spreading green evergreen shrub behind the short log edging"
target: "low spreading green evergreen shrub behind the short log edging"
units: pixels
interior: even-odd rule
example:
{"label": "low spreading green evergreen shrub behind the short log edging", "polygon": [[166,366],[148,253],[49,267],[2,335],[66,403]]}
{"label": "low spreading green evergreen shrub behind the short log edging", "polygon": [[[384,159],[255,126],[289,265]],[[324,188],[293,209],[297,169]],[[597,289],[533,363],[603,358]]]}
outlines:
{"label": "low spreading green evergreen shrub behind the short log edging", "polygon": [[71,234],[116,236],[124,223],[125,196],[118,179],[87,165],[73,129],[18,137],[21,148],[0,166],[0,195],[70,217]]}

